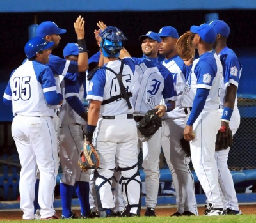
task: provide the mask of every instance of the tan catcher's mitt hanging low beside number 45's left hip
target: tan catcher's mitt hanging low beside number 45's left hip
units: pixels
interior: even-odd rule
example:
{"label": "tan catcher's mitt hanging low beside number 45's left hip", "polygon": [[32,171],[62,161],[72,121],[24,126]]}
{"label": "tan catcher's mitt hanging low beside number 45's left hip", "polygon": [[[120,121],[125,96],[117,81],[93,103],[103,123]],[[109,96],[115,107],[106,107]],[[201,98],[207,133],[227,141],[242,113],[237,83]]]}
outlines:
{"label": "tan catcher's mitt hanging low beside number 45's left hip", "polygon": [[93,144],[84,142],[83,150],[78,157],[78,165],[82,171],[86,172],[88,169],[96,169],[99,167],[100,160],[97,151]]}

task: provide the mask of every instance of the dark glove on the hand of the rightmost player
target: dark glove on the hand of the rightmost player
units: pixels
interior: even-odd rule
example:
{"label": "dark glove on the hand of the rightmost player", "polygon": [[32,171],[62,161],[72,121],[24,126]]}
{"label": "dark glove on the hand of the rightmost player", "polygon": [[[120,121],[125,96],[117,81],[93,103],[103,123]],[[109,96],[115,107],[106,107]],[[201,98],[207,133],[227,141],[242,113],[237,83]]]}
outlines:
{"label": "dark glove on the hand of the rightmost player", "polygon": [[215,142],[215,151],[226,150],[228,147],[233,145],[233,135],[229,127],[221,126],[218,131],[216,142]]}

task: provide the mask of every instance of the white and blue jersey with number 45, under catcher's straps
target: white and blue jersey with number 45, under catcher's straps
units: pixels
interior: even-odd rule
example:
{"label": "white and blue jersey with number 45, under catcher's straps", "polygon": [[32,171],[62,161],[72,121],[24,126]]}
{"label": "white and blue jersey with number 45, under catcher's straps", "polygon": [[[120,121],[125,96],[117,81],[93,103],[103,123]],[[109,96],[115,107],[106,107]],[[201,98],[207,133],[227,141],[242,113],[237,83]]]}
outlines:
{"label": "white and blue jersey with number 45, under catcher's straps", "polygon": [[[133,88],[133,76],[134,76],[134,61],[132,58],[124,58],[124,68],[122,72],[122,80],[124,87],[127,92],[132,92]],[[110,61],[106,63],[106,67],[111,68],[116,73],[120,71],[121,62],[119,60]],[[87,91],[87,100],[98,100],[104,101],[112,98],[113,96],[120,95],[120,86],[116,75],[105,69],[99,69],[93,75],[92,79],[89,82],[88,91]],[[132,97],[129,98],[132,104]],[[128,109],[128,105],[123,98],[115,100],[106,105],[102,105],[100,107],[100,115],[101,116],[115,116],[118,114],[132,114],[134,111],[132,109]]]}

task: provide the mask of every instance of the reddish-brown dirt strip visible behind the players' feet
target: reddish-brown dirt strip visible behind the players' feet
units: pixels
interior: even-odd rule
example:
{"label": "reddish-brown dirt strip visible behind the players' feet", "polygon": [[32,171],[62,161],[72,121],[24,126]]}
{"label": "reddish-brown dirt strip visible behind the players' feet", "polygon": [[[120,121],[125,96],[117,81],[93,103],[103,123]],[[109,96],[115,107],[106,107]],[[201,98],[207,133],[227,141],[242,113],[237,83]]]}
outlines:
{"label": "reddish-brown dirt strip visible behind the players' feet", "polygon": [[[243,212],[244,215],[250,215],[250,214],[256,214],[256,204],[253,205],[240,205],[240,209]],[[156,214],[157,216],[161,217],[168,217],[175,213],[176,208],[162,208],[157,207],[156,208]],[[202,215],[204,212],[204,208],[200,207],[198,208],[199,214]],[[73,210],[74,213],[77,215],[80,215],[79,209]],[[56,210],[56,213],[60,216],[61,210]],[[144,215],[145,210],[141,210],[141,215]],[[0,211],[0,221],[2,220],[21,220],[22,219],[22,211],[21,210],[6,210],[6,211]]]}

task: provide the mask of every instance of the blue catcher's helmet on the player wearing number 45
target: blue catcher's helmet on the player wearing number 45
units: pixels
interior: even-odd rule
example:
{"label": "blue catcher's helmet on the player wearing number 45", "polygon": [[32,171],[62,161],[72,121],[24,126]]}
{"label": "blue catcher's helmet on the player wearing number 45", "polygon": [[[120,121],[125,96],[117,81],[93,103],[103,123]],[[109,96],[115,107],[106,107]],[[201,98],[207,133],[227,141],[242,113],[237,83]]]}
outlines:
{"label": "blue catcher's helmet on the player wearing number 45", "polygon": [[115,26],[109,26],[99,36],[102,37],[100,46],[103,56],[117,58],[124,46],[124,40],[127,40],[124,33]]}

